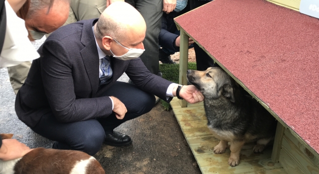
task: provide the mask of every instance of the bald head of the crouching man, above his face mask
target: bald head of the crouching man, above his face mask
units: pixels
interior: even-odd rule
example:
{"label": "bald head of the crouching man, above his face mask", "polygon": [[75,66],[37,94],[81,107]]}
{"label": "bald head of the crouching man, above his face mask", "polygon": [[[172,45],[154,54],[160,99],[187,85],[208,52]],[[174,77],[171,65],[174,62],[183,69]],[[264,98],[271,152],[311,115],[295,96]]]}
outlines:
{"label": "bald head of the crouching man, above his face mask", "polygon": [[128,34],[146,32],[146,23],[142,15],[126,2],[113,2],[101,14],[96,23],[95,36],[99,39],[111,36],[121,42]]}

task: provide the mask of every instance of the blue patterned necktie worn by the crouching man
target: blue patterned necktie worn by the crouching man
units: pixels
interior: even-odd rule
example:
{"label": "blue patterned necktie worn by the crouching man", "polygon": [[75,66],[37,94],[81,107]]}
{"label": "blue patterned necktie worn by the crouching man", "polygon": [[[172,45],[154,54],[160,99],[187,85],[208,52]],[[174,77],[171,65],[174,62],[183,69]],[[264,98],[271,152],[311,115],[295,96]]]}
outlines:
{"label": "blue patterned necktie worn by the crouching man", "polygon": [[100,85],[108,84],[112,75],[113,71],[110,66],[110,57],[105,56],[103,59],[100,59]]}

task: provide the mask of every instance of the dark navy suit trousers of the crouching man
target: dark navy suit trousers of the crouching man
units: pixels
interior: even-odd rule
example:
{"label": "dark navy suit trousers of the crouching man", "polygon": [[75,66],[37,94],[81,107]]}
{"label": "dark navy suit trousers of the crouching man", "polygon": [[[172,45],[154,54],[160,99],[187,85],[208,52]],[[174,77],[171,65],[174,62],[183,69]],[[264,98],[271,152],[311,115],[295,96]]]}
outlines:
{"label": "dark navy suit trousers of the crouching man", "polygon": [[105,118],[62,123],[49,112],[31,129],[45,138],[57,141],[54,149],[78,150],[94,155],[100,150],[106,134],[113,133],[113,129],[125,121],[151,111],[155,104],[154,95],[124,82],[116,82],[103,96],[115,96],[125,104],[128,112],[124,119],[119,120],[112,113]]}

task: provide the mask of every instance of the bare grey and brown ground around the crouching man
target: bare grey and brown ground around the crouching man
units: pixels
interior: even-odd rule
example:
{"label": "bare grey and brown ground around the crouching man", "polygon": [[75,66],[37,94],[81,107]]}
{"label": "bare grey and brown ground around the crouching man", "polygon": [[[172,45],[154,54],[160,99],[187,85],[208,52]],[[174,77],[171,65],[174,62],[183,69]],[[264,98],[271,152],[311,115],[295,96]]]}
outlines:
{"label": "bare grey and brown ground around the crouching man", "polygon": [[[120,81],[127,82],[127,76],[123,75]],[[37,135],[17,118],[14,100],[7,71],[2,68],[0,133],[13,133],[13,138],[30,148],[50,148],[52,141]],[[121,148],[102,146],[94,157],[106,174],[200,174],[173,112],[164,111],[160,103],[116,130],[131,136],[133,144]]]}

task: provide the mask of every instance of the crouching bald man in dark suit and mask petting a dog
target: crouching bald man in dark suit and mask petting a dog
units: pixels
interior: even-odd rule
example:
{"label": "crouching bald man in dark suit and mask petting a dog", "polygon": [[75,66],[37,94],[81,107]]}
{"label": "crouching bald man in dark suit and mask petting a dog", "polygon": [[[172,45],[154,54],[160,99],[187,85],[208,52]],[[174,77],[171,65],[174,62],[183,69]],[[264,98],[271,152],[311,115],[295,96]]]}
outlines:
{"label": "crouching bald man in dark suit and mask petting a dog", "polygon": [[[154,95],[169,102],[179,96],[203,100],[194,86],[178,87],[156,76],[139,56],[144,51],[146,24],[126,2],[114,2],[99,19],[60,27],[39,48],[16,96],[20,120],[34,132],[55,141],[54,149],[96,154],[103,143],[132,144],[113,131],[149,112]],[[135,85],[117,82],[126,73]]]}

